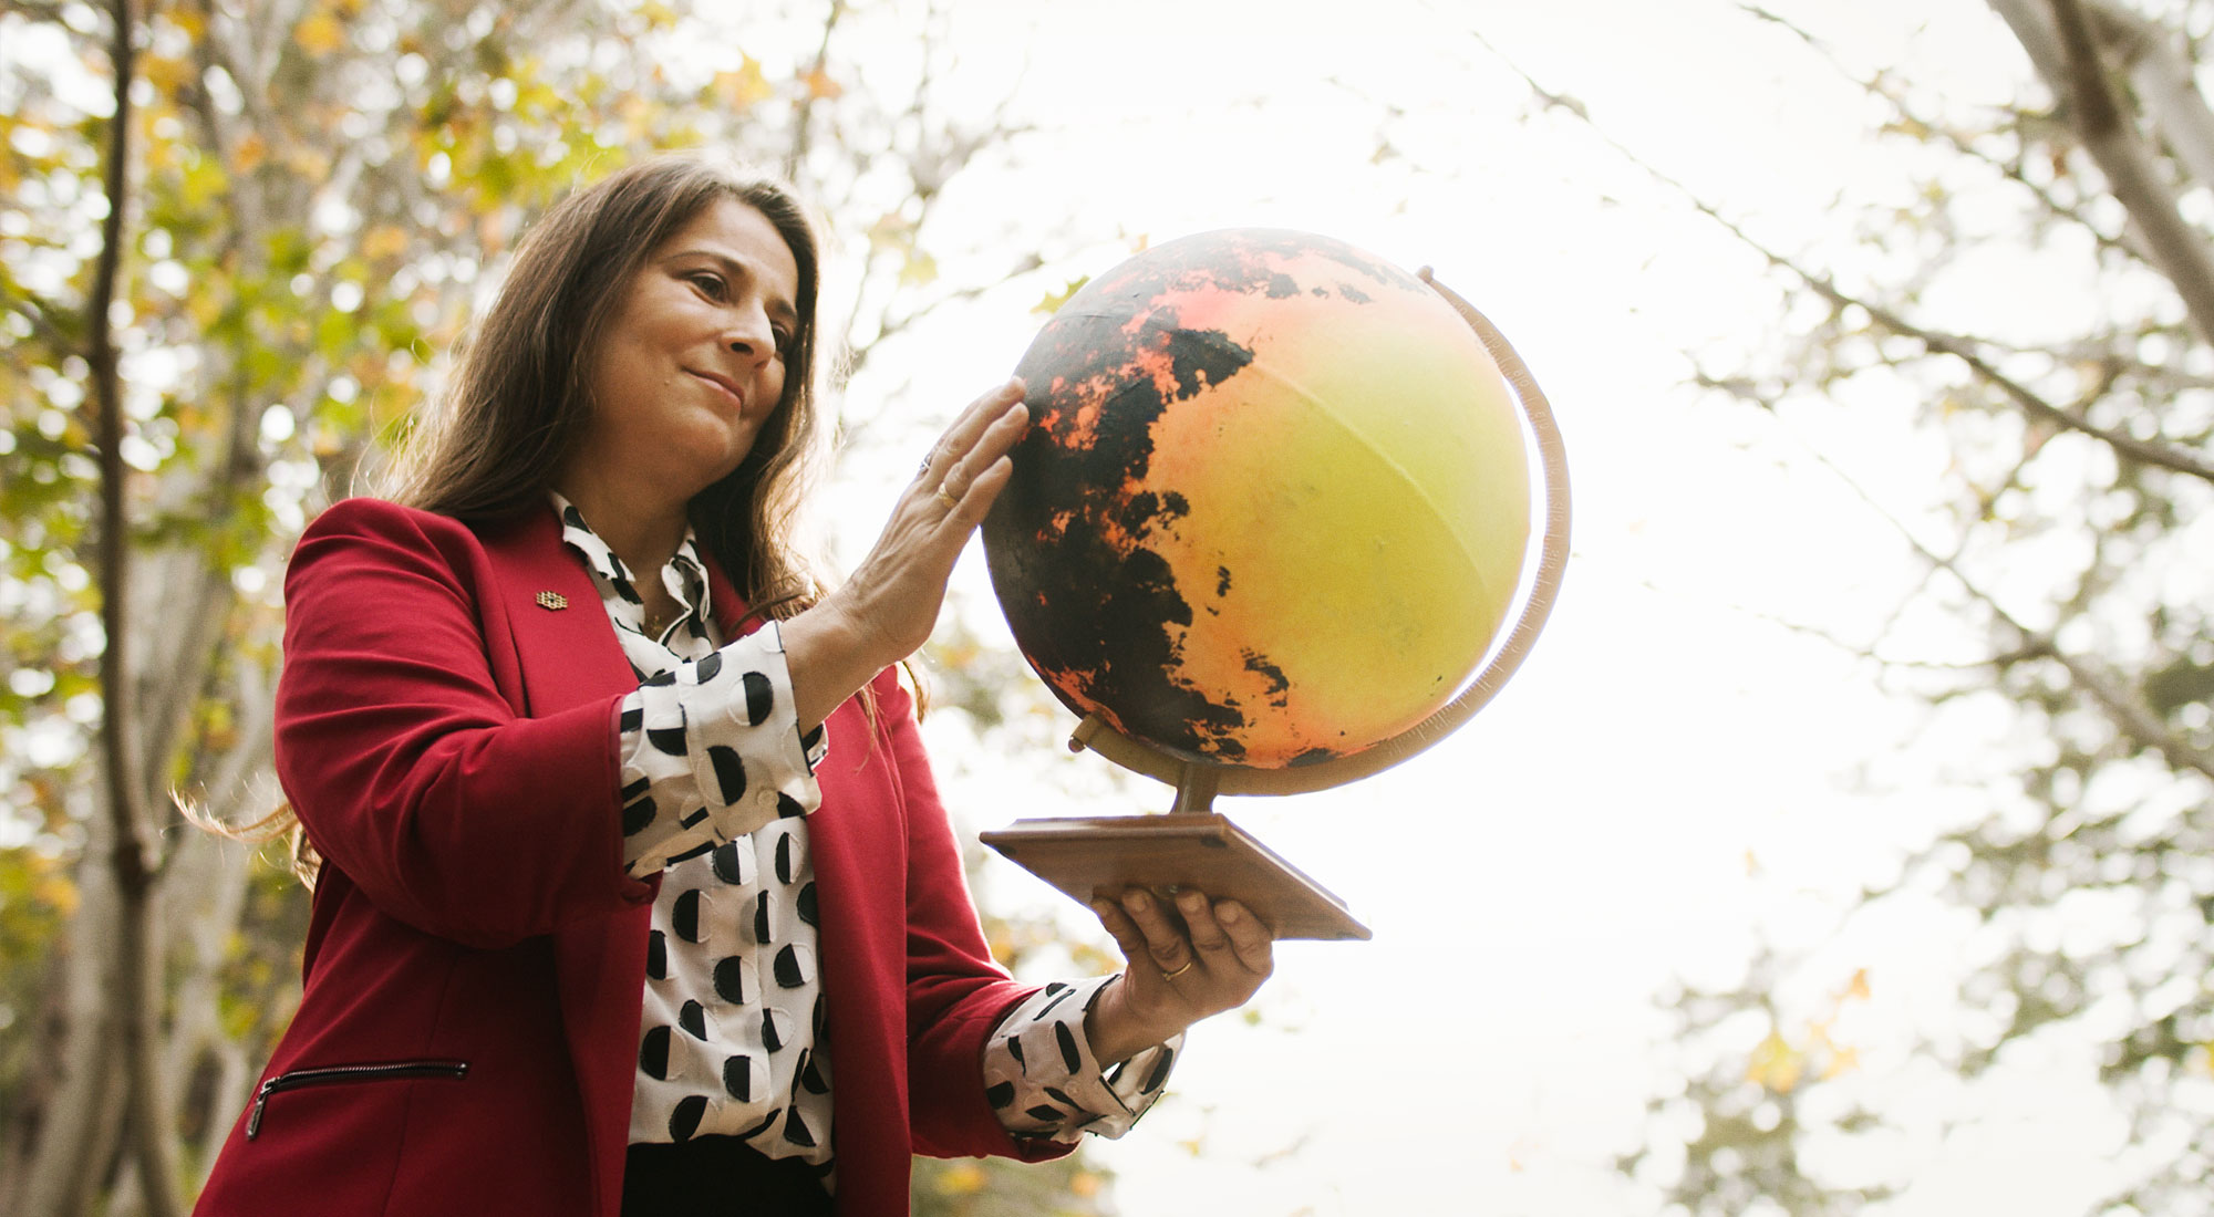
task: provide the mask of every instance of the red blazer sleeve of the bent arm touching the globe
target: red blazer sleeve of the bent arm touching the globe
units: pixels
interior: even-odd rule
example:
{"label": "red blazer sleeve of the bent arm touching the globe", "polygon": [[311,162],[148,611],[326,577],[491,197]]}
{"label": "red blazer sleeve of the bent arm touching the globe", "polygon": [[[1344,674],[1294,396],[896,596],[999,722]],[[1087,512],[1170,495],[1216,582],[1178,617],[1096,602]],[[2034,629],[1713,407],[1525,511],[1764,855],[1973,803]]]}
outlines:
{"label": "red blazer sleeve of the bent arm touching the globe", "polygon": [[622,872],[622,693],[520,717],[489,578],[454,520],[330,507],[286,573],[277,686],[277,777],[308,841],[387,914],[474,947],[653,898]]}

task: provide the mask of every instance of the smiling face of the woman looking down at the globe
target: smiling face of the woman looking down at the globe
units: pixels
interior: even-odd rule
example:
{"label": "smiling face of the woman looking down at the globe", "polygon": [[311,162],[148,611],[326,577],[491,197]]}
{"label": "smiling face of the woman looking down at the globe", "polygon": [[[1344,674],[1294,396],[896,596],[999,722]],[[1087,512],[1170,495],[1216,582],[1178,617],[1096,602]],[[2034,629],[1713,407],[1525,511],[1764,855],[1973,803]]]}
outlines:
{"label": "smiling face of the woman looking down at the globe", "polygon": [[784,398],[799,266],[762,212],[717,199],[622,288],[571,469],[689,500],[753,449]]}

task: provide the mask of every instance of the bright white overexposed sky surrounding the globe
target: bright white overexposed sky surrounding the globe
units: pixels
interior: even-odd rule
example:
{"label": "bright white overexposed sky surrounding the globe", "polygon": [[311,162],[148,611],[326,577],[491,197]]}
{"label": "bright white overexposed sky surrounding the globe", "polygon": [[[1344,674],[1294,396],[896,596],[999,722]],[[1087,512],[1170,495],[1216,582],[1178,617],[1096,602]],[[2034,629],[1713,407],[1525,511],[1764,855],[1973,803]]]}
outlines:
{"label": "bright white overexposed sky surrounding the globe", "polygon": [[[1849,64],[1893,64],[1948,102],[1997,102],[2019,69],[1966,0],[1780,9]],[[1100,1148],[1122,1210],[1652,1213],[1614,1155],[1641,1144],[1643,1104],[1672,1075],[1654,994],[1678,976],[1734,982],[1756,927],[1822,947],[1827,971],[1791,994],[1802,1013],[1866,969],[1871,996],[1835,1033],[1860,1049],[1871,1100],[1955,1104],[1902,1049],[1948,1031],[1933,1020],[1966,929],[1928,905],[1840,936],[1838,909],[1966,803],[1886,759],[1920,719],[1869,666],[1776,624],[1866,637],[1920,578],[1802,443],[1908,516],[1937,456],[1902,440],[1906,401],[1809,414],[1793,438],[1685,392],[1680,352],[1727,372],[1776,336],[1773,281],[1568,115],[1530,119],[1528,89],[1470,31],[1793,252],[1840,252],[1820,230],[1835,204],[1904,190],[1895,146],[1869,135],[1875,113],[1789,33],[1720,0],[1293,11],[956,4],[956,82],[996,95],[1027,64],[1021,104],[1049,137],[1021,175],[950,199],[950,217],[983,235],[1010,210],[1065,215],[1096,248],[1083,272],[1140,235],[1224,226],[1306,228],[1435,266],[1508,332],[1561,416],[1576,560],[1523,675],[1459,737],[1353,788],[1220,808],[1377,938],[1284,945],[1260,1027],[1193,1033],[1178,1095]],[[1377,162],[1386,135],[1395,155]],[[1012,367],[1034,301],[1010,292],[919,334],[899,358],[912,401],[950,412]],[[841,480],[861,496],[897,485],[879,476],[899,458],[875,460]],[[979,553],[956,593],[956,611],[1001,631]],[[970,828],[1167,808],[1165,788],[1114,792],[1098,761],[1063,755],[1069,726],[1036,724],[1032,752],[961,759],[959,724],[939,721]],[[1085,914],[1027,874],[999,865],[987,883],[1001,903],[1065,907],[1083,934]],[[2112,1182],[2103,1155],[2121,1131],[2099,1115],[2088,1058],[2037,1051],[1995,1080],[2004,1122],[1849,1146],[1838,1171],[1917,1179],[1893,1215],[2081,1213]]]}

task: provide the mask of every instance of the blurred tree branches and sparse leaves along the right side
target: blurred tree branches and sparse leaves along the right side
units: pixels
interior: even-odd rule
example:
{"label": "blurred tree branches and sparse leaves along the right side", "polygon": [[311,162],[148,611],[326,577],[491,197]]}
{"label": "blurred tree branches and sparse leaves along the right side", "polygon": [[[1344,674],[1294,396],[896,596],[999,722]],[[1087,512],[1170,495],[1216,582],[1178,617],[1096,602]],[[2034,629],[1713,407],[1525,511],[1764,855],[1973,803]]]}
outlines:
{"label": "blurred tree branches and sparse leaves along the right side", "polygon": [[[1833,633],[1924,701],[1913,735],[1973,741],[1935,759],[1959,823],[1869,876],[1840,925],[1953,909],[1915,914],[1968,951],[1951,1018],[1871,1060],[1846,1027],[1884,978],[1804,943],[1667,996],[1680,1089],[1623,1166],[1680,1210],[1873,1210],[1913,1184],[1884,1146],[1973,1120],[1982,1082],[2052,1044],[2094,1055],[2125,1128],[2097,1210],[2196,1213],[2214,1184],[2214,111],[2196,84],[2214,9],[1990,9],[1993,51],[2013,38],[2024,64],[1999,108],[1747,7],[1889,115],[1906,188],[1787,239],[1669,181],[1771,266],[1784,319],[1747,363],[1694,356],[1716,398],[1866,427],[1913,403],[1897,451],[1935,454],[1939,476],[1922,502],[1869,500],[1926,578]],[[2001,266],[2048,288],[2037,308],[1988,290]],[[1946,781],[1935,766],[1922,781]]]}

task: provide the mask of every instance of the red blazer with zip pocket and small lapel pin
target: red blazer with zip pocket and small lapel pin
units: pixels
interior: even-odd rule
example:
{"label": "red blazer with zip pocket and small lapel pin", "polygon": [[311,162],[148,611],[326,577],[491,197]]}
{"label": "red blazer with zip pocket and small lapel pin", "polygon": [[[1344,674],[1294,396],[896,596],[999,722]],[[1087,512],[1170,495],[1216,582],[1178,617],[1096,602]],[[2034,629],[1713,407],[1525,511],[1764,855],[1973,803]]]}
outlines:
{"label": "red blazer with zip pocket and small lapel pin", "polygon": [[[301,538],[286,611],[277,774],[325,865],[299,1013],[197,1213],[615,1217],[660,881],[622,874],[638,682],[591,575],[554,511],[356,498]],[[912,701],[875,690],[875,726],[830,717],[808,816],[837,1208],[870,1217],[908,1213],[910,1153],[1065,1151],[985,1102],[1032,989],[985,947]]]}

